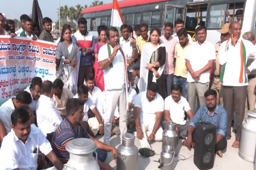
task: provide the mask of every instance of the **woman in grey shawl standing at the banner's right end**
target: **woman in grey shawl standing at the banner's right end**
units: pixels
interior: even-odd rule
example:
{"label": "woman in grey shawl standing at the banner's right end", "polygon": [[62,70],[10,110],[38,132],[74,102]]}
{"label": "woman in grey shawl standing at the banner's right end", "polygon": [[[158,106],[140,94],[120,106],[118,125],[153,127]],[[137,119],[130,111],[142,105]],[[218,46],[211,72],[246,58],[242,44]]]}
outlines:
{"label": "woman in grey shawl standing at the banner's right end", "polygon": [[68,24],[64,24],[56,50],[56,77],[61,79],[64,87],[74,95],[77,93],[79,57],[79,48],[71,39],[71,28]]}

